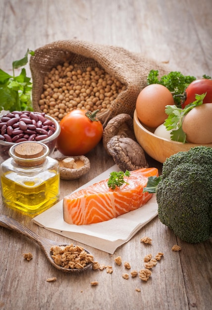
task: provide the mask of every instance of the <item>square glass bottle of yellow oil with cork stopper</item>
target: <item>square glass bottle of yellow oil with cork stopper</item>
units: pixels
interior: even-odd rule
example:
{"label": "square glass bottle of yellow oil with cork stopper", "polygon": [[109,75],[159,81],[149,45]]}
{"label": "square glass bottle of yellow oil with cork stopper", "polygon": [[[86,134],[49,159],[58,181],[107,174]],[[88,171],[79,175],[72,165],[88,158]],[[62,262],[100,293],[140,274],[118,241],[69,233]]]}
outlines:
{"label": "square glass bottle of yellow oil with cork stopper", "polygon": [[9,149],[0,165],[2,201],[28,215],[37,215],[59,199],[59,163],[41,142],[26,141]]}

